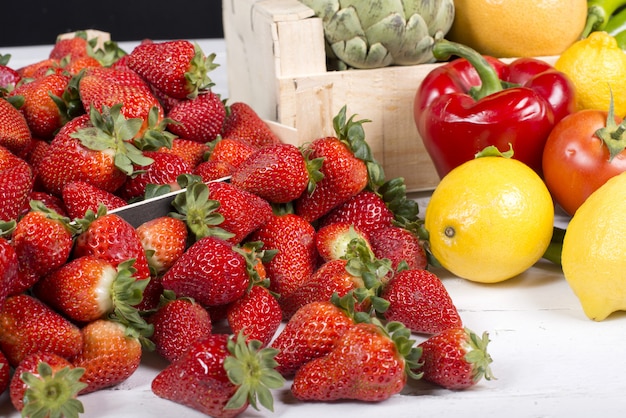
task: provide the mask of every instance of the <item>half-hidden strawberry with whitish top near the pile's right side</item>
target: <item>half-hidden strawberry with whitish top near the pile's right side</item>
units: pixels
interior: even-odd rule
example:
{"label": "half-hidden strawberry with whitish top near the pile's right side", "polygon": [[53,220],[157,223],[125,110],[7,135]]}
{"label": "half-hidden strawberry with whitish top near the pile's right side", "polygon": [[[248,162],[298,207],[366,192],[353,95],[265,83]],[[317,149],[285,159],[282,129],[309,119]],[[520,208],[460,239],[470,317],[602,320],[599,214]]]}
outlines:
{"label": "half-hidden strawberry with whitish top near the pile's right side", "polygon": [[367,234],[348,222],[328,224],[315,233],[315,247],[324,261],[345,258],[350,247],[357,244],[371,249]]}

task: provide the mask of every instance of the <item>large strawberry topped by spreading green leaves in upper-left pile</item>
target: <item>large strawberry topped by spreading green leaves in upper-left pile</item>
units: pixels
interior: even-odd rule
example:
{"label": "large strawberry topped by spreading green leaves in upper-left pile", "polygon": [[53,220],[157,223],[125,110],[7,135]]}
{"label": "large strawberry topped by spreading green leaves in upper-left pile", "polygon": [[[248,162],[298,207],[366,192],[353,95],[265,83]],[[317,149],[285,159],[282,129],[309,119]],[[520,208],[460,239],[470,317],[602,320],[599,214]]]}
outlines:
{"label": "large strawberry topped by spreading green leaves in upper-left pile", "polygon": [[[45,191],[61,195],[71,181],[84,181],[108,192],[116,191],[133,172],[133,164],[150,160],[126,142],[139,127],[121,117],[115,106],[103,114],[92,109],[65,124],[37,164],[38,179]],[[120,137],[119,135],[122,134]]]}

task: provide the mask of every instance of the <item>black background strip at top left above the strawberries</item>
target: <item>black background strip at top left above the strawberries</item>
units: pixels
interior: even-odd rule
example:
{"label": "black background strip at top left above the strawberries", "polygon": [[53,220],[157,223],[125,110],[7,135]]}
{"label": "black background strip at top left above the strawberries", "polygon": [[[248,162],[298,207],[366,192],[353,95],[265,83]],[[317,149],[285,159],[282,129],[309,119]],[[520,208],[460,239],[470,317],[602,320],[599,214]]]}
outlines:
{"label": "black background strip at top left above the strawberries", "polygon": [[52,44],[83,29],[117,42],[223,37],[221,0],[5,0],[0,10],[0,46]]}

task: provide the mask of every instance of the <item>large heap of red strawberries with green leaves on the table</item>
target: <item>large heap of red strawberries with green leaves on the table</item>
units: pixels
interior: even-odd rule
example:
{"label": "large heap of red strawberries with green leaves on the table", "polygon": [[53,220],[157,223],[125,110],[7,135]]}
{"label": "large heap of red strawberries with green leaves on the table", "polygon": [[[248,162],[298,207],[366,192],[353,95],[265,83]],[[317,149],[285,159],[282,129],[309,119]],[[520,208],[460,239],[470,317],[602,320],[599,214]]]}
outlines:
{"label": "large heap of red strawberries with green leaves on the table", "polygon": [[[283,143],[183,40],[3,58],[0,392],[23,415],[77,416],[146,350],[169,361],[157,396],[216,417],[272,409],[285,379],[302,401],[382,401],[409,377],[492,377],[367,121],[344,108],[336,136]],[[109,213],[182,188],[138,227]]]}

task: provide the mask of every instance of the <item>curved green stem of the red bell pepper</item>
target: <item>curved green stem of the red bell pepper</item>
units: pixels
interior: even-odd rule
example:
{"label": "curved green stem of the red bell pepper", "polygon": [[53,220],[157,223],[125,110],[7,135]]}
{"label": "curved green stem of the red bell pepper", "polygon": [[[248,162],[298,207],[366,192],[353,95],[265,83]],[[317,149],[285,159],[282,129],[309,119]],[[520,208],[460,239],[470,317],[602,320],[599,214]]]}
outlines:
{"label": "curved green stem of the red bell pepper", "polygon": [[496,73],[496,70],[478,51],[447,39],[438,39],[433,45],[433,56],[439,60],[449,59],[451,56],[466,59],[478,73],[480,77],[480,87],[475,86],[470,90],[470,95],[475,100],[480,100],[490,94],[496,93],[503,89],[502,82]]}

